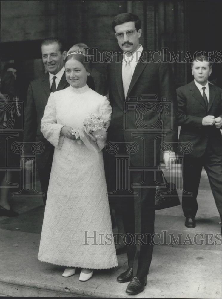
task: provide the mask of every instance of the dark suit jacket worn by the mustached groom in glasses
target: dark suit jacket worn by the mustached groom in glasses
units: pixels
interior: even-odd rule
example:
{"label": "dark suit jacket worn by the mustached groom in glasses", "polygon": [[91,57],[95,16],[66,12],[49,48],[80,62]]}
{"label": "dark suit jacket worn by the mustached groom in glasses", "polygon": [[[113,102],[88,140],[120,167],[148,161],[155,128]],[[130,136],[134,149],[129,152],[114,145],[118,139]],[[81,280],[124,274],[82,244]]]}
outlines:
{"label": "dark suit jacket worn by the mustached groom in glasses", "polygon": [[[155,60],[159,58],[155,57]],[[138,150],[130,154],[134,165],[159,163],[162,135],[162,141],[174,150],[178,141],[176,89],[171,66],[149,60],[147,51],[143,50],[126,99],[122,82],[122,52],[115,54],[108,65],[109,96],[113,109],[108,141],[136,142]]]}

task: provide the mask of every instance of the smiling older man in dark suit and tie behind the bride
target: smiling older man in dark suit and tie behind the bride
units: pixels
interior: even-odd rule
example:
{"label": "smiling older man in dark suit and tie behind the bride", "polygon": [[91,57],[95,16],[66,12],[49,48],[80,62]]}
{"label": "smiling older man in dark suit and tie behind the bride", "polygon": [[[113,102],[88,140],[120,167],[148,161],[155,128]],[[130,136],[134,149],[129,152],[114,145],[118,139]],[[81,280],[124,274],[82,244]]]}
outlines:
{"label": "smiling older man in dark suit and tie behind the bride", "polygon": [[[24,148],[25,153],[29,154],[31,153],[32,142],[41,141],[44,144],[44,151],[36,155],[36,164],[45,205],[54,147],[43,137],[40,124],[50,93],[64,89],[69,84],[66,81],[64,68],[67,52],[64,51],[62,42],[56,38],[46,39],[41,44],[41,52],[47,73],[29,84],[25,113]],[[27,161],[25,167],[32,169],[33,160]]]}

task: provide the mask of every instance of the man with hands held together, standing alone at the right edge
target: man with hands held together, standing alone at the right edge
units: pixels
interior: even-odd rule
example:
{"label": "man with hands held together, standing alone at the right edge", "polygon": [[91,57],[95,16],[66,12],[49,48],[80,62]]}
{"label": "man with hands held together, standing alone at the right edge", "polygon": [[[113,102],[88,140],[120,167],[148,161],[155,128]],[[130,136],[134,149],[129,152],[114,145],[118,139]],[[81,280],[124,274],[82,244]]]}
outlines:
{"label": "man with hands held together, standing alone at the right edge", "polygon": [[184,155],[182,168],[182,208],[188,228],[196,225],[202,167],[206,170],[222,221],[222,89],[208,82],[211,72],[207,57],[197,57],[192,62],[194,80],[177,89],[179,140],[191,144],[191,151]]}

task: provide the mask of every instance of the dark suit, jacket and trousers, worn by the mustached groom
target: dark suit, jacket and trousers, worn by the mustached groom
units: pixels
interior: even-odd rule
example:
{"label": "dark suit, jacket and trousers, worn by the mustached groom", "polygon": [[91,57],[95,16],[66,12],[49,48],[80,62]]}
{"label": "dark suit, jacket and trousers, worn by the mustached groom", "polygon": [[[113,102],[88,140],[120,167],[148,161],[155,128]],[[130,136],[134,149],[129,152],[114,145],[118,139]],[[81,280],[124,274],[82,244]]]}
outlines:
{"label": "dark suit, jacket and trousers, worn by the mustached groom", "polygon": [[[155,57],[156,60],[158,58],[160,57]],[[108,65],[108,85],[113,112],[108,129],[108,144],[104,150],[104,165],[110,202],[114,199],[116,203],[120,203],[126,234],[152,235],[155,215],[153,169],[160,161],[161,136],[163,135],[163,142],[174,149],[178,135],[172,70],[169,63],[149,62],[148,54],[143,50],[125,99],[120,53],[114,55],[113,61]],[[112,152],[116,153],[118,161]],[[121,157],[122,161],[125,157],[125,162],[120,161]],[[124,170],[118,173],[121,163],[129,163],[130,171],[126,166],[125,174]],[[143,173],[144,167],[147,168]],[[127,187],[128,175],[130,190]],[[132,184],[137,185],[131,186]],[[112,193],[113,191],[116,193]],[[134,196],[130,191],[135,192]],[[143,239],[143,242],[149,244],[151,239]],[[143,245],[140,242],[136,246],[127,246],[128,264],[133,267],[134,276],[148,274],[152,249],[152,244]]]}

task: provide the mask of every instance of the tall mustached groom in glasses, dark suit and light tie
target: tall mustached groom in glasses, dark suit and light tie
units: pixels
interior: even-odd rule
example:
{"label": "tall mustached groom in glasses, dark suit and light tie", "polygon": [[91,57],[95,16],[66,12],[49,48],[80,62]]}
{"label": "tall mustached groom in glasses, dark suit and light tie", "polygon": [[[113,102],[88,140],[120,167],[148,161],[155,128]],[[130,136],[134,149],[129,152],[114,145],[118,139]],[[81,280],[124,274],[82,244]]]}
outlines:
{"label": "tall mustached groom in glasses, dark suit and light tie", "polygon": [[152,259],[155,169],[161,146],[166,169],[175,162],[177,100],[169,63],[162,63],[161,56],[149,62],[139,43],[138,16],[119,14],[112,29],[122,51],[107,66],[113,113],[104,165],[110,203],[114,201],[122,214],[128,245],[128,269],[117,281],[129,282],[126,293],[135,295],[147,284]]}

